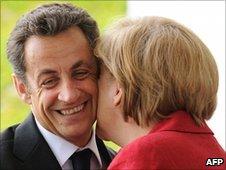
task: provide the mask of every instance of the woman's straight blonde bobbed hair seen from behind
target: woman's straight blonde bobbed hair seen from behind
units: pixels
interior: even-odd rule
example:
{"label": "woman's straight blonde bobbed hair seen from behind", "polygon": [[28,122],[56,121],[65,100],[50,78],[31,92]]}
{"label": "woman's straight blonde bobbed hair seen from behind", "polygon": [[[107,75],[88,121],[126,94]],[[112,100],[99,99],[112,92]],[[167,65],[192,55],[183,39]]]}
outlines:
{"label": "woman's straight blonde bobbed hair seen from behind", "polygon": [[125,119],[146,126],[185,110],[200,125],[212,116],[216,63],[181,24],[163,17],[124,18],[101,37],[95,53],[124,89]]}

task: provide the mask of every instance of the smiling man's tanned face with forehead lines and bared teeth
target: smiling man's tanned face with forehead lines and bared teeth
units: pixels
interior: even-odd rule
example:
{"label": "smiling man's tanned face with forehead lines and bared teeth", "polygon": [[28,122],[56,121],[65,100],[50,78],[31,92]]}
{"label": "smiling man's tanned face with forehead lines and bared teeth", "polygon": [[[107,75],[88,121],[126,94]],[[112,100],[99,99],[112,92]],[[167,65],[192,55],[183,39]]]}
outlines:
{"label": "smiling man's tanned face with forehead lines and bared teeth", "polygon": [[25,62],[25,101],[36,119],[54,134],[85,145],[96,119],[98,89],[96,62],[81,29],[30,37]]}

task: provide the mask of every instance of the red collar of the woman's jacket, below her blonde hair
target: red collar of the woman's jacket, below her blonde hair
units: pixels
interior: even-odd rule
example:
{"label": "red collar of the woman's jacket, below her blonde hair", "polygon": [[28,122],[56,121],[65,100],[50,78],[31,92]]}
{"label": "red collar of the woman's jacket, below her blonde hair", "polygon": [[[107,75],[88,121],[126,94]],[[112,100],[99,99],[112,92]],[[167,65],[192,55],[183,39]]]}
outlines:
{"label": "red collar of the woman's jacket, below her blonde hair", "polygon": [[177,111],[171,113],[170,116],[159,123],[157,123],[150,133],[160,131],[178,131],[185,133],[207,133],[213,132],[207,126],[206,122],[203,122],[201,126],[198,126],[191,115],[185,111]]}

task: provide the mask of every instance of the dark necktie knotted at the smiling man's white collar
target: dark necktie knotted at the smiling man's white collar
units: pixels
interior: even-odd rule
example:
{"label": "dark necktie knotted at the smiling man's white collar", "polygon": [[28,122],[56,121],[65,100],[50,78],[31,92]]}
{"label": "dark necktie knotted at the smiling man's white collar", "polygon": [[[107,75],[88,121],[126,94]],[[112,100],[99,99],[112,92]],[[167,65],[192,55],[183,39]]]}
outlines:
{"label": "dark necktie knotted at the smiling man's white collar", "polygon": [[73,169],[74,170],[89,170],[91,156],[92,156],[92,151],[90,149],[84,149],[82,151],[75,152],[70,157],[70,159],[72,161]]}

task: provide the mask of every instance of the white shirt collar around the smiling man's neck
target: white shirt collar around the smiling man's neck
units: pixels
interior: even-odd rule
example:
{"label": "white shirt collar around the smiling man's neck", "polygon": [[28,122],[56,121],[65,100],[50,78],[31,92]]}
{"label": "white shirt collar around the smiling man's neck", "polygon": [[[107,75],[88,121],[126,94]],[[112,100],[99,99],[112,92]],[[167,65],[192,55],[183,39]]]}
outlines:
{"label": "white shirt collar around the smiling man's neck", "polygon": [[52,132],[46,130],[36,119],[35,122],[61,167],[65,164],[65,162],[70,158],[70,156],[75,151],[80,151],[86,148],[92,150],[92,152],[95,154],[99,162],[100,167],[102,167],[102,161],[96,144],[95,131],[92,132],[92,137],[89,140],[88,144],[83,148],[79,148],[78,146],[68,142],[64,138],[57,136]]}

